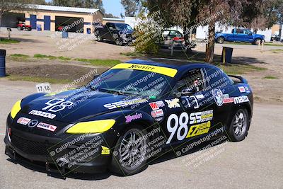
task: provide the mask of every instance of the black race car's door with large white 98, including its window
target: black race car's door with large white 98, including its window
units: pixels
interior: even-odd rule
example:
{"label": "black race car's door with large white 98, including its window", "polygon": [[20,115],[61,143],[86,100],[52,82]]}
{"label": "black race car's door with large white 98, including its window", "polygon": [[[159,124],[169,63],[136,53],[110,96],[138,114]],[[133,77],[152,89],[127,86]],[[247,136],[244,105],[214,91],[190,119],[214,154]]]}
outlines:
{"label": "black race car's door with large white 98, including its window", "polygon": [[206,98],[204,88],[201,67],[186,71],[173,86],[171,95],[165,99],[166,144],[182,144],[209,131],[213,110],[202,103]]}

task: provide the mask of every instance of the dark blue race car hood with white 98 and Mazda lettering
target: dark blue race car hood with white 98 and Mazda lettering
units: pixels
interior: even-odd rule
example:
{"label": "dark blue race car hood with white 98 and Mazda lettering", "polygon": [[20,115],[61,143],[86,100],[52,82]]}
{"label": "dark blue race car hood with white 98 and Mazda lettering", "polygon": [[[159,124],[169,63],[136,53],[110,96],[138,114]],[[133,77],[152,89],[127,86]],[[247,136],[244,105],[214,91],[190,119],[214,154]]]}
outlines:
{"label": "dark blue race car hood with white 98 and Mazda lettering", "polygon": [[[76,123],[96,115],[128,108],[141,98],[129,98],[86,88],[64,91],[55,95],[47,94],[23,105],[21,113],[45,116],[59,122]],[[24,99],[23,99],[24,101]],[[130,103],[130,104],[129,104]],[[54,118],[53,118],[54,117]]]}

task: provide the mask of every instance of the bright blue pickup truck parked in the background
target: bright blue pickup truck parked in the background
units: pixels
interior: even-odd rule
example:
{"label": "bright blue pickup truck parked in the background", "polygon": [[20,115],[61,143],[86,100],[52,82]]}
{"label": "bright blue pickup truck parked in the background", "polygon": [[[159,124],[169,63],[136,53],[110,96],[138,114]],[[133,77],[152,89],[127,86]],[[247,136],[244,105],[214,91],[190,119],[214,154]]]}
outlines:
{"label": "bright blue pickup truck parked in the background", "polygon": [[234,41],[250,42],[254,45],[258,45],[260,41],[265,40],[265,35],[252,33],[248,29],[234,28],[231,33],[216,33],[215,40],[218,43],[223,43],[224,41]]}

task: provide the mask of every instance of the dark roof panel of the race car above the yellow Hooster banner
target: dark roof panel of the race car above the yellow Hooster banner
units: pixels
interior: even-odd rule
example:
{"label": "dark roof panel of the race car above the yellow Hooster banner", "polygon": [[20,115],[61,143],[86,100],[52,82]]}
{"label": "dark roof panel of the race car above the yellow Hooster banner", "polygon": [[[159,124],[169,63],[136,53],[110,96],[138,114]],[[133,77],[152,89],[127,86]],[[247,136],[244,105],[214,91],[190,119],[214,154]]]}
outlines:
{"label": "dark roof panel of the race car above the yellow Hooster banner", "polygon": [[195,67],[207,67],[207,68],[216,68],[219,69],[219,67],[216,67],[212,64],[208,63],[202,63],[202,62],[185,62],[180,60],[174,60],[174,59],[161,59],[162,62],[155,62],[152,60],[144,60],[144,59],[132,59],[126,63],[132,63],[132,64],[146,64],[151,66],[158,66],[158,67],[168,67],[177,69],[178,71],[184,71],[187,69],[193,69]]}

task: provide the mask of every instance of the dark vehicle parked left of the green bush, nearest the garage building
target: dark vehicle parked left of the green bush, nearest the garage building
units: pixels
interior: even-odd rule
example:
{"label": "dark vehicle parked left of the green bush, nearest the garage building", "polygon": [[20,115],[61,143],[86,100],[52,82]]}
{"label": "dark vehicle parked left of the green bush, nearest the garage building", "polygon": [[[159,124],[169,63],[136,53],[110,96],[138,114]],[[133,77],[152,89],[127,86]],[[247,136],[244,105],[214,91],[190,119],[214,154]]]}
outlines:
{"label": "dark vehicle parked left of the green bush, nearest the garage building", "polygon": [[125,23],[106,23],[94,25],[95,35],[98,41],[109,40],[116,45],[125,45],[134,41],[132,27]]}

